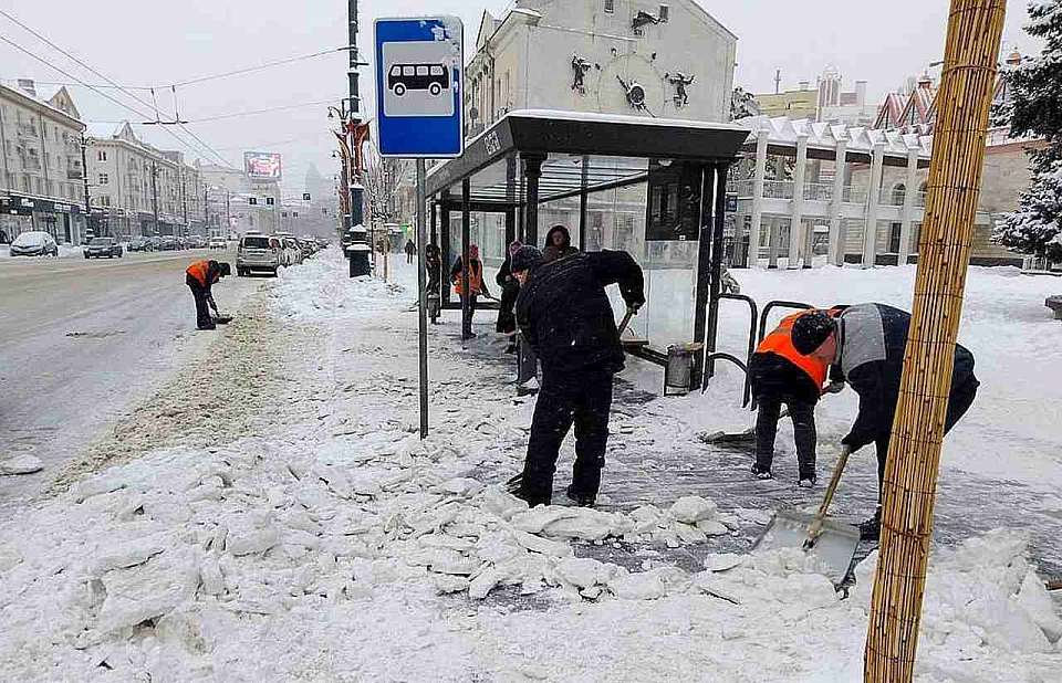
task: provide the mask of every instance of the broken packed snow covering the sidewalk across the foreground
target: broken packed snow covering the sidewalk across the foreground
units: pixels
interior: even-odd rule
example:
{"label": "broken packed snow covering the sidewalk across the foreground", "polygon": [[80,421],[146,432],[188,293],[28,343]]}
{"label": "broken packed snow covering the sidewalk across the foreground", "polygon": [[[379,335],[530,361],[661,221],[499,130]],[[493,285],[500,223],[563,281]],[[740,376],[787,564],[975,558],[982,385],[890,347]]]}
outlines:
{"label": "broken packed snow covering the sidewalk across the foreground", "polygon": [[[410,292],[325,252],[266,296],[327,339],[288,382],[320,392],[314,411],[144,453],[2,523],[0,679],[861,680],[874,555],[844,598],[798,551],[660,559],[735,533],[745,513],[704,496],[529,511],[497,482],[532,403],[446,332],[433,434],[415,433]],[[586,557],[605,547],[644,560]],[[934,554],[919,681],[1058,680],[1062,609],[1025,548],[1000,529]]]}

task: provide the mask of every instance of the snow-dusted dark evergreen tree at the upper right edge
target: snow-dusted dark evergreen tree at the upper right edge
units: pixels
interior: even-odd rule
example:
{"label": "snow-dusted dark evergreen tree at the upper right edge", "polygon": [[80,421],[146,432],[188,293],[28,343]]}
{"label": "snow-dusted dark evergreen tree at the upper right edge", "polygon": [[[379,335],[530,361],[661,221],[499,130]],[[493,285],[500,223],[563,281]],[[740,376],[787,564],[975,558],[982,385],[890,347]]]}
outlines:
{"label": "snow-dusted dark evergreen tree at the upper right edge", "polygon": [[1018,211],[997,225],[1000,244],[1038,258],[1062,260],[1062,0],[1029,4],[1025,31],[1044,41],[1043,51],[1007,74],[1011,87],[1010,134],[1032,136],[1045,146],[1030,154],[1032,185]]}

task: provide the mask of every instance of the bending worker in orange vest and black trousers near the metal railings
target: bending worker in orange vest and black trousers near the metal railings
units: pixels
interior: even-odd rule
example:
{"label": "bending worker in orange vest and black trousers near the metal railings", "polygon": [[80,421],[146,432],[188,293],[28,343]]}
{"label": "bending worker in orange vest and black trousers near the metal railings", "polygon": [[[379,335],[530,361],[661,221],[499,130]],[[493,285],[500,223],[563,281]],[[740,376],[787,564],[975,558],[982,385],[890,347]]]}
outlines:
{"label": "bending worker in orange vest and black trousers near the metal railings", "polygon": [[[804,356],[793,347],[793,324],[815,309],[801,311],[782,318],[779,326],[763,337],[749,362],[749,377],[758,404],[756,418],[756,463],[752,474],[758,479],[773,479],[771,465],[774,460],[774,437],[782,403],[793,420],[793,438],[796,442],[801,487],[815,485],[815,403],[825,391],[840,391],[844,385],[832,382],[826,390],[829,366],[821,360]],[[840,315],[840,308],[826,312]]]}

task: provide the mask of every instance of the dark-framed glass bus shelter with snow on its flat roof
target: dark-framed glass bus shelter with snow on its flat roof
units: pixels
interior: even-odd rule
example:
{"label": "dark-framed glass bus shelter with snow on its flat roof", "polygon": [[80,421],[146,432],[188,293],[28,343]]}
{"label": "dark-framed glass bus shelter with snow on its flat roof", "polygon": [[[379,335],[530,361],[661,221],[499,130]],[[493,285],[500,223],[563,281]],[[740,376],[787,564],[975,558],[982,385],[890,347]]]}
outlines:
{"label": "dark-framed glass bus shelter with snow on its flat roof", "polygon": [[[477,244],[489,277],[513,240],[542,246],[564,225],[581,250],[623,250],[644,269],[631,353],[664,365],[671,345],[712,349],[727,170],[748,135],[707,122],[511,112],[428,172],[430,241],[447,270]],[[444,308],[460,308],[448,288],[442,296]],[[700,351],[695,383],[702,367]]]}

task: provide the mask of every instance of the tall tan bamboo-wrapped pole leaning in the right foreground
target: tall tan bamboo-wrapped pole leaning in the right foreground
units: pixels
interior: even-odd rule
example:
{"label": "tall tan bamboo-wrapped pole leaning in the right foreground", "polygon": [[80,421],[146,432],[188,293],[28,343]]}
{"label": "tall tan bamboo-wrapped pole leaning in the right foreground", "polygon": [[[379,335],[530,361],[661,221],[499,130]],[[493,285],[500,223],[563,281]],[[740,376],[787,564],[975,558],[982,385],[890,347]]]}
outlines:
{"label": "tall tan bamboo-wrapped pole leaning in the right foreground", "polygon": [[882,488],[865,680],[910,681],[1006,0],[951,0],[915,305]]}

